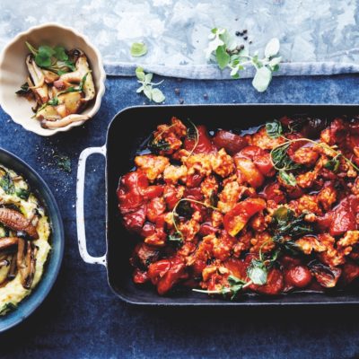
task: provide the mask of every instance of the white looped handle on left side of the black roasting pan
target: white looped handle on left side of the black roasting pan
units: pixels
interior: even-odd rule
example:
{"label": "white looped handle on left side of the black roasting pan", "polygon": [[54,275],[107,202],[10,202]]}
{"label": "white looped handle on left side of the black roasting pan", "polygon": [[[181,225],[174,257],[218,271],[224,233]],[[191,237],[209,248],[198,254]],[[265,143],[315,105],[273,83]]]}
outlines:
{"label": "white looped handle on left side of the black roasting pan", "polygon": [[84,177],[86,171],[86,161],[92,153],[101,153],[106,157],[106,146],[102,147],[89,147],[83,150],[80,154],[78,167],[77,167],[77,183],[76,183],[76,224],[77,224],[77,239],[80,255],[86,263],[101,264],[106,267],[106,253],[101,257],[93,257],[87,251],[86,246],[86,232],[84,225],[84,212],[83,212],[83,192],[84,192]]}

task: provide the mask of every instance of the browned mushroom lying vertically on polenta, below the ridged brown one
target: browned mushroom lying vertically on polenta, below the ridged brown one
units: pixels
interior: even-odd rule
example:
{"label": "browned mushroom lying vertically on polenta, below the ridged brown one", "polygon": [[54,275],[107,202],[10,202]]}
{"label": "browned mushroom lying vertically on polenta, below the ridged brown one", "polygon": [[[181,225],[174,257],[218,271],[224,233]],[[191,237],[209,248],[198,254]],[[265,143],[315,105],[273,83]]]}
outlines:
{"label": "browned mushroom lying vertically on polenta, below the ridged brown one", "polygon": [[31,288],[35,276],[36,253],[37,247],[31,241],[19,239],[16,264],[22,277],[22,286],[25,289]]}

